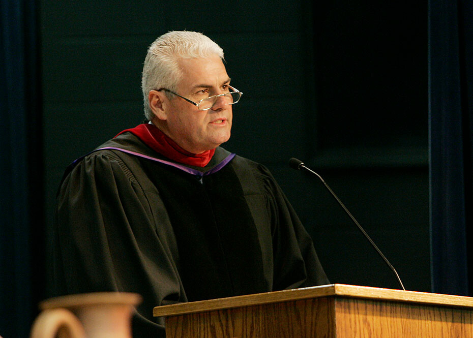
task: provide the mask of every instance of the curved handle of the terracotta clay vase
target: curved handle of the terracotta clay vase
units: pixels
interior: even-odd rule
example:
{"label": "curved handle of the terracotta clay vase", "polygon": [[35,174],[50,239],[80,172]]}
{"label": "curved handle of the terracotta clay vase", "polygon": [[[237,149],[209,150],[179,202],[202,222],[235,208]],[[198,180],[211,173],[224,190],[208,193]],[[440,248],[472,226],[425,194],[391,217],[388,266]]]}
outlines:
{"label": "curved handle of the terracotta clay vase", "polygon": [[66,309],[44,310],[36,318],[30,338],[86,338],[77,317]]}

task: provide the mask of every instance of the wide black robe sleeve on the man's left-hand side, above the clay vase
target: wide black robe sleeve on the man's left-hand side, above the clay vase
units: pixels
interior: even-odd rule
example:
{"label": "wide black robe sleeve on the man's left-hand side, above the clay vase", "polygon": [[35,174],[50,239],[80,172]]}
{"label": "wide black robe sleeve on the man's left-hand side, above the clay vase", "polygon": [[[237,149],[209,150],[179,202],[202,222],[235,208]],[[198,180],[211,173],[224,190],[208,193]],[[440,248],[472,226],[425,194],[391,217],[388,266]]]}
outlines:
{"label": "wide black robe sleeve on the man's left-hand side, above the clay vase", "polygon": [[133,336],[164,337],[164,322],[153,318],[153,308],[185,295],[167,230],[160,236],[157,227],[170,228],[157,192],[145,192],[111,151],[85,157],[66,176],[57,197],[54,295],[136,292],[143,302],[133,317]]}

